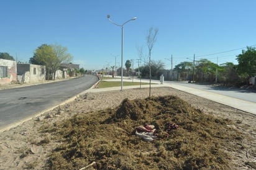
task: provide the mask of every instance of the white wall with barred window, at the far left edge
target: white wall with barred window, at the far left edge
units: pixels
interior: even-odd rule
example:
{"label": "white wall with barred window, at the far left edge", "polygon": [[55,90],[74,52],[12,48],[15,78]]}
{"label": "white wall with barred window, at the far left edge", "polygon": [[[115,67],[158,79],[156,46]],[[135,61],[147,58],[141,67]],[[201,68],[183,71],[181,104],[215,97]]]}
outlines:
{"label": "white wall with barred window, at the far left edge", "polygon": [[[0,66],[4,69],[7,67],[7,75],[0,76],[0,84],[11,83],[12,81],[17,81],[17,68],[16,61],[4,60],[0,58]],[[0,75],[3,75],[3,70],[0,69]]]}

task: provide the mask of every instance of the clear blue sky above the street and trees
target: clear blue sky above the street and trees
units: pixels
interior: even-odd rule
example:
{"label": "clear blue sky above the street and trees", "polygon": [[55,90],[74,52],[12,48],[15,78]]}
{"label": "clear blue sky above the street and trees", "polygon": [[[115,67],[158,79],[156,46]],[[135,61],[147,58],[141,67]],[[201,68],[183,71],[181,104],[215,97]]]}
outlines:
{"label": "clear blue sky above the street and trees", "polygon": [[107,14],[117,24],[137,17],[124,25],[124,63],[139,58],[137,47],[148,60],[150,27],[158,29],[152,60],[167,69],[171,55],[173,66],[193,55],[236,64],[242,49],[235,49],[256,45],[255,0],[0,0],[0,7],[0,52],[23,62],[47,43],[67,47],[73,63],[85,69],[113,66],[117,55],[121,65],[121,27]]}

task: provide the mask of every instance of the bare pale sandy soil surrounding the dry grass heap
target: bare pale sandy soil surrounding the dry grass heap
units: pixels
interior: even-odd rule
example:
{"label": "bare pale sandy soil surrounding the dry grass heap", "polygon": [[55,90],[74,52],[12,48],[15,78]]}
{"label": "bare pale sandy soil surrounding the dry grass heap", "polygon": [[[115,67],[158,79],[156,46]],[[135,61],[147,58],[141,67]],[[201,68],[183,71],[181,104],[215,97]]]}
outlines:
{"label": "bare pale sandy soil surrounding the dry grass heap", "polygon": [[[247,114],[226,105],[203,99],[169,87],[152,88],[152,96],[175,95],[203,110],[206,114],[232,120],[231,128],[236,128],[245,134],[241,143],[229,141],[232,146],[239,146],[237,150],[226,152],[231,157],[232,169],[255,169],[249,166],[256,158],[256,121],[255,115]],[[42,133],[40,128],[62,121],[75,114],[85,114],[93,110],[117,107],[125,98],[136,99],[149,96],[149,89],[127,89],[87,93],[75,101],[45,112],[16,128],[0,134],[0,169],[47,169],[48,154],[60,143],[52,140],[50,133]]]}

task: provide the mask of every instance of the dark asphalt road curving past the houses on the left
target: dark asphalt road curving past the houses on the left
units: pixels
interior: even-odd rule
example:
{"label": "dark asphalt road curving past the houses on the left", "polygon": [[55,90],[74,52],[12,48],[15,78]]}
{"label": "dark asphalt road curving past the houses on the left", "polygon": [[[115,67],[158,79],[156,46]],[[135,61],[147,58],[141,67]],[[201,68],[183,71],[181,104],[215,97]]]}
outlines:
{"label": "dark asphalt road curving past the houses on the left", "polygon": [[0,91],[0,130],[58,105],[89,89],[98,77],[81,78]]}

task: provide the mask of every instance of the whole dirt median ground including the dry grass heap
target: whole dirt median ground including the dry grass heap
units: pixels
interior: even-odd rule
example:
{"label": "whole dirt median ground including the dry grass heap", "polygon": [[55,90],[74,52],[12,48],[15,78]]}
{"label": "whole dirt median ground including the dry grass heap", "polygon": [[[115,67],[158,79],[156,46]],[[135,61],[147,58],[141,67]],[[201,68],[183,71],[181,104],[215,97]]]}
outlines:
{"label": "whole dirt median ground including the dry grass heap", "polygon": [[[0,169],[254,169],[255,116],[168,87],[88,93],[1,134]],[[178,125],[167,135],[167,123]],[[152,124],[144,141],[135,127]]]}

